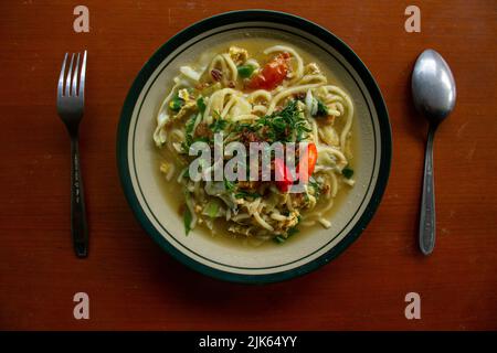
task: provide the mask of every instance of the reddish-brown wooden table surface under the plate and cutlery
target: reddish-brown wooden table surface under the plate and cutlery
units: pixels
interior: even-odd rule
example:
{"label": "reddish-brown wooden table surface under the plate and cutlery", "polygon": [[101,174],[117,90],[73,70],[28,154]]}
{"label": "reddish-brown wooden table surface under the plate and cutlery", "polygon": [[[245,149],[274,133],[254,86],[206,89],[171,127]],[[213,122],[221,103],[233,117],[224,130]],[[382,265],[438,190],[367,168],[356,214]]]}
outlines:
{"label": "reddish-brown wooden table surface under the plate and cutlery", "polygon": [[[116,127],[145,61],[171,35],[214,13],[267,1],[85,1],[89,33],[73,31],[75,2],[0,4],[0,329],[497,329],[497,8],[491,1],[417,1],[406,33],[398,1],[285,1],[269,9],[331,30],[364,61],[390,111],[393,161],[382,204],[332,264],[265,287],[220,282],[166,255],[134,218],[117,176]],[[426,124],[410,73],[433,47],[450,63],[457,105],[436,136],[437,243],[416,247]],[[63,53],[89,52],[82,168],[91,254],[70,238],[70,143],[56,116]],[[89,320],[73,296],[89,296]],[[421,320],[404,297],[421,296]]]}

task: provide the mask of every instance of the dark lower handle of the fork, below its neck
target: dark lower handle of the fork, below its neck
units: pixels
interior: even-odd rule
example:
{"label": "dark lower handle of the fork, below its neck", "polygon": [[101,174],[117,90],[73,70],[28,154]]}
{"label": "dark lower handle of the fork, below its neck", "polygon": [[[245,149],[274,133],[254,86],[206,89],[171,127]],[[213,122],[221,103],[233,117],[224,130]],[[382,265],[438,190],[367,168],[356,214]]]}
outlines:
{"label": "dark lower handle of the fork, below its neck", "polygon": [[76,256],[84,258],[88,256],[88,226],[80,167],[80,143],[76,136],[71,138],[71,234]]}

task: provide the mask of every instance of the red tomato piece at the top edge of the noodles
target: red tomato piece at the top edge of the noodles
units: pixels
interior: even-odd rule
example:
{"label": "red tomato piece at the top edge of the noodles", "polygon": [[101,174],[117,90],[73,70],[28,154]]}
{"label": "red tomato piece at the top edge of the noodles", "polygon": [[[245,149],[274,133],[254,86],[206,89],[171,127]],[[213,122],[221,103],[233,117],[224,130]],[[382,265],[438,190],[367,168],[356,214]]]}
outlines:
{"label": "red tomato piece at the top edge of the noodles", "polygon": [[289,57],[290,55],[288,53],[281,53],[273,57],[273,60],[251,79],[248,88],[271,90],[279,85],[288,74]]}

